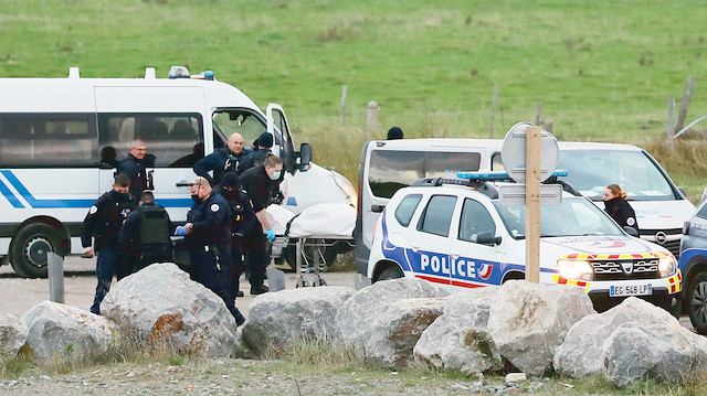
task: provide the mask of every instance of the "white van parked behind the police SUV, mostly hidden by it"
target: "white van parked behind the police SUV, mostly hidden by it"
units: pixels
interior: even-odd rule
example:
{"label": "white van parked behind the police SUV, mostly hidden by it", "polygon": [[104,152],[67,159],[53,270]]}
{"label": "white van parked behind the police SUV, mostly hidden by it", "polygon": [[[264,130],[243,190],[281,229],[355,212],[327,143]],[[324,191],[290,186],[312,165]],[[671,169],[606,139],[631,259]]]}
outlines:
{"label": "white van parked behind the police SUV, mostly hidden by it", "polygon": [[[445,170],[503,171],[500,139],[402,139],[369,141],[359,161],[356,269],[366,274],[373,228],[390,197],[421,178]],[[620,184],[636,212],[641,238],[679,255],[683,223],[695,206],[645,150],[630,145],[559,142],[558,169],[576,190],[599,207],[604,188]]]}

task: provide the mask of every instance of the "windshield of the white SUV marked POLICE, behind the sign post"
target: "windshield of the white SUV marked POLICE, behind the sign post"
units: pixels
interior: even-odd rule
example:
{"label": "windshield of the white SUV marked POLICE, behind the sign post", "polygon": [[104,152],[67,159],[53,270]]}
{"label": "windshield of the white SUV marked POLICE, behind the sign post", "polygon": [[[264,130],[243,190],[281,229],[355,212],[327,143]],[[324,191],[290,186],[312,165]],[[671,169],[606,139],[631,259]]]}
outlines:
{"label": "windshield of the white SUV marked POLICE, behind the sign post", "polygon": [[[516,239],[525,238],[526,207],[494,205]],[[559,205],[540,206],[540,236],[624,235],[604,211],[583,197],[563,197]]]}

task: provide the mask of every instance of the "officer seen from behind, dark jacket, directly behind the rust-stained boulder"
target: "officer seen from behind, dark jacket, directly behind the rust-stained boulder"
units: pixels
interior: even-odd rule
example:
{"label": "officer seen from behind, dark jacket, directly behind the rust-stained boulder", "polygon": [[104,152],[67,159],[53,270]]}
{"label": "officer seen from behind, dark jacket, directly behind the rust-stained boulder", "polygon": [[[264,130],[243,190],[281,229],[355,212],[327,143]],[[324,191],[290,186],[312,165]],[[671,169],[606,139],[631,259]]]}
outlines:
{"label": "officer seen from behind, dark jacket, directly behind the rust-stained boulder", "polygon": [[125,220],[118,242],[126,247],[133,272],[152,263],[172,261],[172,244],[169,236],[175,227],[167,211],[155,203],[150,190],[143,191],[140,206]]}

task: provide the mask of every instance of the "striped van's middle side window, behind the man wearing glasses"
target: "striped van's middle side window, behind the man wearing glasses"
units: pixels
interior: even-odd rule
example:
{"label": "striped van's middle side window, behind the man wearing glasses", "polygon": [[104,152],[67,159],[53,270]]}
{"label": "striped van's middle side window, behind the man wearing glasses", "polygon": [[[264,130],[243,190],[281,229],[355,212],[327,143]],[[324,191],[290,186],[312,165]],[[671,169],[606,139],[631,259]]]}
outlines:
{"label": "striped van's middle side window, behind the man wearing glasses", "polygon": [[[125,159],[140,139],[148,167],[191,168],[203,158],[203,122],[199,114],[99,114],[98,143]],[[104,160],[102,160],[105,162]]]}

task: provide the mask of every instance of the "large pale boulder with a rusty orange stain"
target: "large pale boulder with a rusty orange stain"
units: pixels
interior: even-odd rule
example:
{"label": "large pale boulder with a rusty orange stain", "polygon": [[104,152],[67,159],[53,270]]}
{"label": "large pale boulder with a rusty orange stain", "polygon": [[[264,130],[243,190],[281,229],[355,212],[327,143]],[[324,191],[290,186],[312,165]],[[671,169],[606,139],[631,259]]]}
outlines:
{"label": "large pale boulder with a rusty orange stain", "polygon": [[123,278],[106,295],[101,313],[125,332],[207,356],[230,356],[236,343],[235,320],[223,300],[170,263]]}

